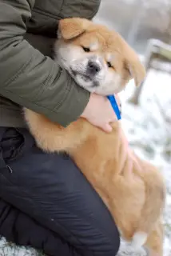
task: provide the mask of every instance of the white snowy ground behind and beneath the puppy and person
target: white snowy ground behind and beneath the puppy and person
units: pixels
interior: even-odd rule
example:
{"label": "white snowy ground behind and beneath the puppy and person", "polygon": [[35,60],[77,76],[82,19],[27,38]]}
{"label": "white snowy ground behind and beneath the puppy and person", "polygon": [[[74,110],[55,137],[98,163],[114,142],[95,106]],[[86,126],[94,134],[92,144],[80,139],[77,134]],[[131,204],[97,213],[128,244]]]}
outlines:
{"label": "white snowy ground behind and beneath the puppy and person", "polygon": [[[171,77],[168,74],[151,71],[141,94],[141,104],[131,106],[127,99],[131,96],[134,84],[129,82],[121,93],[123,102],[122,123],[130,146],[141,156],[153,162],[165,175],[167,203],[165,207],[165,256],[171,256]],[[170,123],[163,118],[170,118]],[[0,256],[40,256],[41,253],[17,247],[0,240]],[[144,256],[144,251],[121,244],[118,256]]]}

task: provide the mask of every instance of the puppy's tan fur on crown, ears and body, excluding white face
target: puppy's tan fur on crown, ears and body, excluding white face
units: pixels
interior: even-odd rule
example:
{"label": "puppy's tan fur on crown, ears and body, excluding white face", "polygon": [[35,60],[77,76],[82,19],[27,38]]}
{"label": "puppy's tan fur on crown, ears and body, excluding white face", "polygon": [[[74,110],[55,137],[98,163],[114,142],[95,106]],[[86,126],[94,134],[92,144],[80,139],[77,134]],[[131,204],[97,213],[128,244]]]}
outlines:
{"label": "puppy's tan fur on crown, ears and body, excluding white face", "polygon": [[[96,26],[89,21],[84,23],[82,20],[84,30],[80,30],[80,19],[74,20],[74,24],[70,20],[73,19],[61,22],[62,36],[67,40],[86,33],[88,24],[89,30],[96,34],[98,40],[103,44],[109,43],[110,32],[104,26]],[[116,40],[110,41],[112,45],[108,46],[111,53],[117,49],[117,56],[121,52],[116,69],[124,76],[127,70],[120,69],[120,61],[126,59],[133,78],[137,84],[140,83],[145,72],[137,55],[118,34],[114,35]],[[79,44],[79,40],[78,37],[73,43]],[[130,78],[128,73],[125,83]],[[145,245],[149,247],[150,255],[163,255],[161,213],[165,203],[165,182],[154,166],[142,161],[129,149],[120,122],[113,123],[111,134],[105,134],[83,118],[63,128],[31,110],[25,110],[25,116],[30,132],[42,150],[65,151],[74,158],[109,208],[123,238],[131,241],[136,232],[145,232],[148,234]]]}

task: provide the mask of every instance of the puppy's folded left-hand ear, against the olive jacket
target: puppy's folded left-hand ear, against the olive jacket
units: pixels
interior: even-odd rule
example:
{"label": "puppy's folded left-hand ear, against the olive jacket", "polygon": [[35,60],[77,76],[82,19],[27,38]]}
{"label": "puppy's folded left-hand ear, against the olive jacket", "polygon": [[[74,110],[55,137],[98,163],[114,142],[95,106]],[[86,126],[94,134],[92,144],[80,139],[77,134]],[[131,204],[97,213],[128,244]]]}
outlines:
{"label": "puppy's folded left-hand ear, against the olive jacket", "polygon": [[59,22],[59,34],[62,38],[70,40],[84,33],[90,21],[85,18],[64,18]]}

